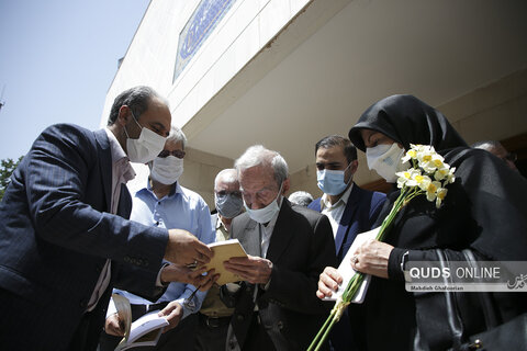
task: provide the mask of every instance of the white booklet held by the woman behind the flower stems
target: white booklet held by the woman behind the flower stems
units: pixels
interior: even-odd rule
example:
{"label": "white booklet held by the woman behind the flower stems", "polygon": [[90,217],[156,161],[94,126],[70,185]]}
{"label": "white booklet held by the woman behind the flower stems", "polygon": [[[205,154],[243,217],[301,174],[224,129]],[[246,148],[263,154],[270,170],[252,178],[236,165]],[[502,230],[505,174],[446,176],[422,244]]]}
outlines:
{"label": "white booklet held by the woman behind the flower stems", "polygon": [[[343,276],[343,283],[338,286],[338,291],[333,293],[332,297],[324,297],[324,301],[337,301],[337,298],[343,295],[344,290],[346,288],[346,286],[348,286],[349,281],[357,273],[357,271],[351,268],[351,257],[357,251],[357,248],[361,246],[365,241],[367,241],[368,239],[374,239],[377,237],[377,234],[379,233],[379,229],[380,227],[377,227],[374,229],[371,229],[370,231],[363,231],[357,235],[354,244],[351,244],[351,247],[349,248],[348,252],[346,253],[343,261],[340,262],[340,265],[337,269]],[[370,284],[370,280],[371,275],[367,274],[365,281],[359,287],[358,294],[355,296],[351,303],[362,304],[362,302],[365,301],[366,292],[368,290],[368,285]]]}

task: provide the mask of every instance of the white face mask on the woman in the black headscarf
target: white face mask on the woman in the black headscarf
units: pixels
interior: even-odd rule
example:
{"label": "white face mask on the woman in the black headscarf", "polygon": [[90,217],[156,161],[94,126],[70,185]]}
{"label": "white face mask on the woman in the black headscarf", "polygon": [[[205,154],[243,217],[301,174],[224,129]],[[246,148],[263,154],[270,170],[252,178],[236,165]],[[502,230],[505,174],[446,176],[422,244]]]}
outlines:
{"label": "white face mask on the woman in the black headscarf", "polygon": [[384,178],[389,183],[395,183],[397,180],[396,172],[403,171],[405,167],[401,161],[404,156],[404,149],[400,148],[396,143],[380,144],[366,149],[368,168],[374,169],[379,176]]}

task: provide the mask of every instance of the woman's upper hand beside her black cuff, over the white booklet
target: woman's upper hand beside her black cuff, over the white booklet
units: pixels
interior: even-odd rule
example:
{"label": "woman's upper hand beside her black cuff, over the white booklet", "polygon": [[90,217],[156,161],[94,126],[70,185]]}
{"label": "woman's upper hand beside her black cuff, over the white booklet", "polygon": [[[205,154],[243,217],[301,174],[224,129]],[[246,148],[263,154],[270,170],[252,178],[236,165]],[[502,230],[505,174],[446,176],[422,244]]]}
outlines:
{"label": "woman's upper hand beside her black cuff, over the white booklet", "polygon": [[370,239],[362,244],[351,257],[354,270],[388,279],[388,260],[393,246]]}

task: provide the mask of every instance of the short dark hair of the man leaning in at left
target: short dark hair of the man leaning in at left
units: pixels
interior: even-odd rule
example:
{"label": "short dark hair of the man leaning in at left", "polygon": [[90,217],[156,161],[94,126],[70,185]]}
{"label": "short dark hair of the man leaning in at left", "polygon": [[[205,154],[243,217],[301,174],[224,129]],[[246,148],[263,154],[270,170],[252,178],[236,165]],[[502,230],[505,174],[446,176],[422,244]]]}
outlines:
{"label": "short dark hair of the man leaning in at left", "polygon": [[139,86],[123,91],[113,101],[110,116],[108,117],[108,125],[113,125],[117,121],[119,110],[123,105],[128,106],[134,116],[139,118],[139,115],[148,110],[148,104],[154,98],[161,100],[168,106],[168,101],[150,87]]}

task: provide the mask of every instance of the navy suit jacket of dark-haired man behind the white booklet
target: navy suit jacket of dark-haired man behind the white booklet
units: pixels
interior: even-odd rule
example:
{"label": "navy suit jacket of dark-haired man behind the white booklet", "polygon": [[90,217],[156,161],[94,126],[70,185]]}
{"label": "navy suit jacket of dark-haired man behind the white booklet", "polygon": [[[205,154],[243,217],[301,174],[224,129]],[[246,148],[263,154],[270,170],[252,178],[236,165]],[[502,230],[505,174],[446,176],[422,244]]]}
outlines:
{"label": "navy suit jacket of dark-haired man behind the white booklet", "polygon": [[[373,228],[385,200],[385,194],[363,190],[354,183],[335,237],[338,263],[348,252],[357,234]],[[314,200],[307,207],[321,212],[321,197]]]}

